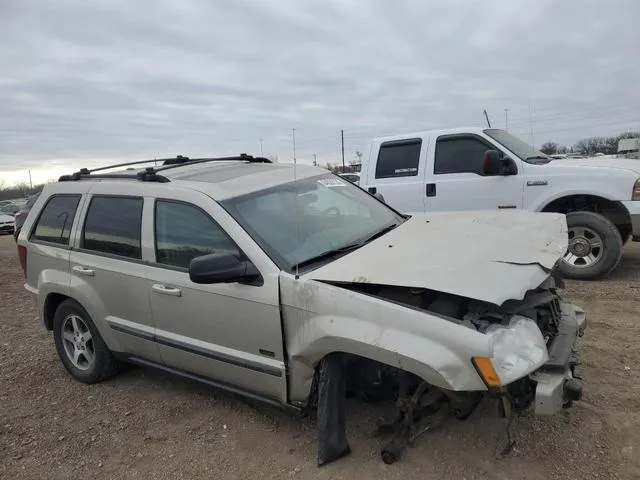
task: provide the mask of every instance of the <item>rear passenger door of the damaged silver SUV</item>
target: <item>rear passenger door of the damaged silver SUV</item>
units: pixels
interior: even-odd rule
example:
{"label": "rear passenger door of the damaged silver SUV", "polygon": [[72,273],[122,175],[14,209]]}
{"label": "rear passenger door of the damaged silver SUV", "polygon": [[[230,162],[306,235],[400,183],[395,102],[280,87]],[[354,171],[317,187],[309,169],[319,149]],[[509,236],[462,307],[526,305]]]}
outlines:
{"label": "rear passenger door of the damaged silver SUV", "polygon": [[159,363],[149,306],[151,267],[142,260],[145,200],[131,190],[129,182],[92,186],[70,254],[69,290],[111,350]]}

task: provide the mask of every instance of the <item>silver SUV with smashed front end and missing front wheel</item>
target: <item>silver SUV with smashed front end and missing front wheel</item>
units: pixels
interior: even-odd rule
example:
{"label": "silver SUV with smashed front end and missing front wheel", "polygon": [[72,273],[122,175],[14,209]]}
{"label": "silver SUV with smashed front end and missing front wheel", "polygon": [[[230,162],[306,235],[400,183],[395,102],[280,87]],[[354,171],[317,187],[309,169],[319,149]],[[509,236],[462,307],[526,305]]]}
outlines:
{"label": "silver SUV with smashed front end and missing front wheel", "polygon": [[[83,169],[18,237],[64,367],[152,366],[304,414],[349,453],[344,399],[397,405],[385,462],[483,396],[503,416],[581,396],[584,312],[558,295],[564,215],[402,215],[325,170],[248,155]],[[111,170],[109,170],[111,169]]]}

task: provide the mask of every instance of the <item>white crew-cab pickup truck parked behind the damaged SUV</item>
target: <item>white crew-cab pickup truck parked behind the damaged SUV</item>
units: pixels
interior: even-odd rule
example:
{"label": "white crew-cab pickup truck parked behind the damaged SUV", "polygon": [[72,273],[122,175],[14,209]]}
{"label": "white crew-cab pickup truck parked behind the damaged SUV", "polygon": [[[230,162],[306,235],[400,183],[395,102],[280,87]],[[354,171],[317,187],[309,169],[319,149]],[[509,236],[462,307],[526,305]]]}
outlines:
{"label": "white crew-cab pickup truck parked behind the damaged SUV", "polygon": [[623,245],[630,238],[640,241],[639,160],[552,161],[495,128],[375,138],[363,158],[360,187],[403,213],[564,213],[569,247],[559,268],[569,278],[608,274],[620,262]]}

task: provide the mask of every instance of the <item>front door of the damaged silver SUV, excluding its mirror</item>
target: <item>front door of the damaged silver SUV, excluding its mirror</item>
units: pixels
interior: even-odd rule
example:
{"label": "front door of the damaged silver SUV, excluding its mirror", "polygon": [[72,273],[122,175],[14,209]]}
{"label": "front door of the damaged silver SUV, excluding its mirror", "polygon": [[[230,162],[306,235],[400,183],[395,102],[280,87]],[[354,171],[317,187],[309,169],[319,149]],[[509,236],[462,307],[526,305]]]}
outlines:
{"label": "front door of the damaged silver SUV, excluding its mirror", "polygon": [[[245,394],[286,402],[275,265],[269,265],[249,236],[204,194],[185,190],[173,192],[170,199],[156,198],[153,214],[155,271],[149,288],[156,341],[165,365]],[[190,261],[221,252],[251,260],[261,280],[191,282]]]}

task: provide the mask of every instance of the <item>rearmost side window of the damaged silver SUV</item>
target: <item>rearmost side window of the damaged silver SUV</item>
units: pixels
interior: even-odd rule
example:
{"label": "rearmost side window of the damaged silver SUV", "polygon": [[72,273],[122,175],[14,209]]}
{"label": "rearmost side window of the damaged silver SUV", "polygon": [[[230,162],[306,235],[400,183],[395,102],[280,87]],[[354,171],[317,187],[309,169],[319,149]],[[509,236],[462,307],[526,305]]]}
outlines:
{"label": "rearmost side window of the damaged silver SUV", "polygon": [[54,195],[42,209],[31,240],[69,245],[80,195]]}

